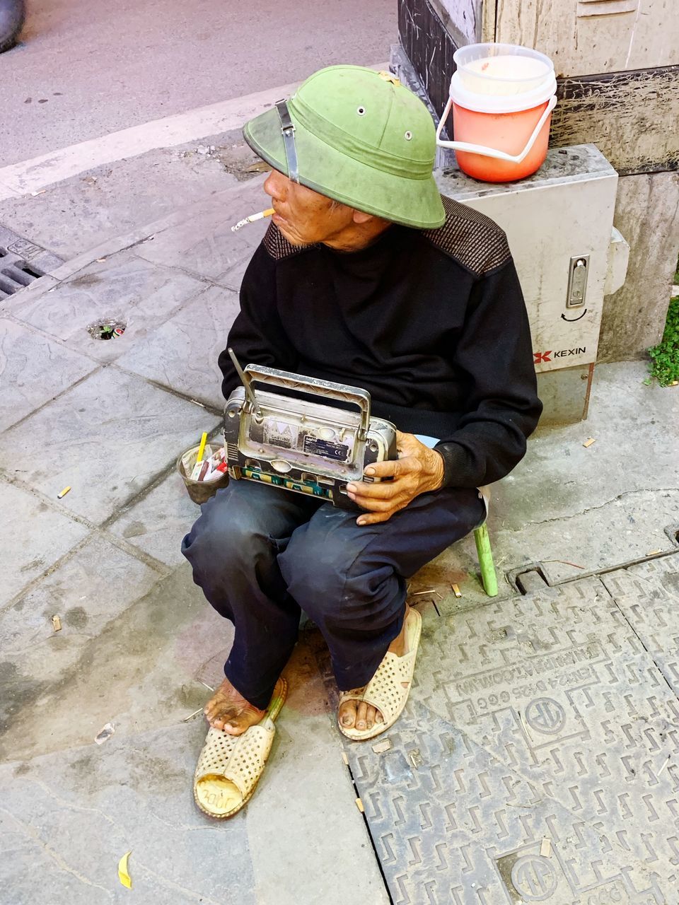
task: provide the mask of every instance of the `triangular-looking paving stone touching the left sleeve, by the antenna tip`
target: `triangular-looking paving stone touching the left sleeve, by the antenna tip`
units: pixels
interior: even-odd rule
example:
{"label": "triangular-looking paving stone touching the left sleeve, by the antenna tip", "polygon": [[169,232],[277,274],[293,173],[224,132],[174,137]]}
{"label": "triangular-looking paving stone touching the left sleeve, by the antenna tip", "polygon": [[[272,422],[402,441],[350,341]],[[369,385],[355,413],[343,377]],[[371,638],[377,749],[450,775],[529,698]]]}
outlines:
{"label": "triangular-looking paving stone touching the left sleeve, by the antenna tip", "polygon": [[217,357],[238,310],[234,292],[213,286],[136,343],[118,364],[192,399],[224,408]]}

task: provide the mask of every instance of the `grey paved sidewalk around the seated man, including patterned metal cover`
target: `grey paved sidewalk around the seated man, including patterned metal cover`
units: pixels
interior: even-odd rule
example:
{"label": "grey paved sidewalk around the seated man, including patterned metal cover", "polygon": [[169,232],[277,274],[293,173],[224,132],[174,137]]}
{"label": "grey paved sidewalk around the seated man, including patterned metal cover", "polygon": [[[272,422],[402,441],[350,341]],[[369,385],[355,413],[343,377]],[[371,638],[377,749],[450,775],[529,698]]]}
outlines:
{"label": "grey paved sidewalk around the seated man, including patterned metal cover", "polygon": [[[640,363],[598,367],[588,422],[539,429],[494,489],[497,598],[471,538],[416,576],[397,726],[345,745],[309,627],[253,801],[196,810],[192,714],[230,635],[179,554],[197,510],[174,462],[219,430],[216,357],[263,233],[230,226],[261,181],[75,256],[64,222],[70,260],[0,302],[0,898],[679,902],[679,395]],[[38,202],[16,208],[34,241]],[[109,318],[123,336],[92,339]]]}

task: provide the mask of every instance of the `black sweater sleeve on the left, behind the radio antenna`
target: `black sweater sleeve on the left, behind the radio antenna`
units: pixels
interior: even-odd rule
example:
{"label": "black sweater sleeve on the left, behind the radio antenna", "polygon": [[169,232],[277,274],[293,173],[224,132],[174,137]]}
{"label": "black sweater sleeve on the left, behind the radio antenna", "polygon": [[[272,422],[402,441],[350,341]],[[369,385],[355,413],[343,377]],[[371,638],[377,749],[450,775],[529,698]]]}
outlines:
{"label": "black sweater sleeve on the left, behind the radio antenna", "polygon": [[[276,262],[261,244],[245,271],[239,311],[226,339],[241,367],[249,364],[294,370],[292,344],[282,327],[276,304]],[[224,379],[222,393],[228,399],[240,378],[226,349],[218,364]]]}

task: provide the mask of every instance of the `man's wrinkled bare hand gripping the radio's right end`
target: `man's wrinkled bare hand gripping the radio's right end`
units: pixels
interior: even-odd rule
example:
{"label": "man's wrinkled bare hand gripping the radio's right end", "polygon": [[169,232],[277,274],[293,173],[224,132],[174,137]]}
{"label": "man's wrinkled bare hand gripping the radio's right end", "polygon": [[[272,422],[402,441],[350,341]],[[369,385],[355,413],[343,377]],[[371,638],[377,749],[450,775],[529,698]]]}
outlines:
{"label": "man's wrinkled bare hand gripping the radio's right end", "polygon": [[365,470],[368,477],[393,477],[393,481],[347,484],[349,497],[368,510],[356,519],[358,525],[387,521],[418,494],[437,491],[443,484],[444,460],[440,453],[420,443],[412,433],[400,431],[397,431],[397,451],[397,460],[376,462]]}

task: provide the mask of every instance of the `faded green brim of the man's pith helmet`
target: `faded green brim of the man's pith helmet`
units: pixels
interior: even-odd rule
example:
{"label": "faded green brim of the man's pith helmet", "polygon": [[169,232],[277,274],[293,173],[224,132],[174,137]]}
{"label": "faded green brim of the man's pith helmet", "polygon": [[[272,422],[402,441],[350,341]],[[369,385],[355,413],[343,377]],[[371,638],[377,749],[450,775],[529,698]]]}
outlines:
{"label": "faded green brim of the man's pith helmet", "polygon": [[[294,125],[303,186],[393,223],[416,229],[444,224],[444,205],[434,176],[410,179],[386,173],[332,148],[299,123]],[[255,154],[288,176],[281,119],[275,107],[247,122],[243,136]]]}

